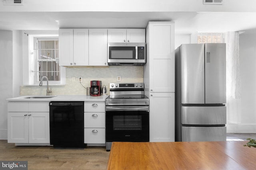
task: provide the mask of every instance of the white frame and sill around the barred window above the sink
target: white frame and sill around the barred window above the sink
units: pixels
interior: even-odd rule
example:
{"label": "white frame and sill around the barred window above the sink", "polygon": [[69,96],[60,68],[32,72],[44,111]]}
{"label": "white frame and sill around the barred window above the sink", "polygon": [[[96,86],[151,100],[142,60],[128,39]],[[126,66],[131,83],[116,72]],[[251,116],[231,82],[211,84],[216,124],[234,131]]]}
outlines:
{"label": "white frame and sill around the barred window above the sink", "polygon": [[[36,37],[58,37],[57,31],[37,31],[28,30],[22,31],[22,66],[24,86],[38,86],[39,82],[35,80],[34,76],[34,39]],[[60,66],[60,81],[49,81],[49,85],[64,85],[66,84],[66,68]],[[43,83],[46,85],[46,83]]]}

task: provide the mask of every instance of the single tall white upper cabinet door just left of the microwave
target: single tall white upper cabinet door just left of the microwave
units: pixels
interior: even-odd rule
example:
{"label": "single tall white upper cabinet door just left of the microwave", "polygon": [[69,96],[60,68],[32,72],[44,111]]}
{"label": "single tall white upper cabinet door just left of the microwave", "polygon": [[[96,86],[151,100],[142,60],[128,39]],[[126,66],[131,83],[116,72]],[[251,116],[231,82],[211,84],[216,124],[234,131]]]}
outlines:
{"label": "single tall white upper cabinet door just left of the microwave", "polygon": [[89,29],[89,65],[107,66],[108,30]]}

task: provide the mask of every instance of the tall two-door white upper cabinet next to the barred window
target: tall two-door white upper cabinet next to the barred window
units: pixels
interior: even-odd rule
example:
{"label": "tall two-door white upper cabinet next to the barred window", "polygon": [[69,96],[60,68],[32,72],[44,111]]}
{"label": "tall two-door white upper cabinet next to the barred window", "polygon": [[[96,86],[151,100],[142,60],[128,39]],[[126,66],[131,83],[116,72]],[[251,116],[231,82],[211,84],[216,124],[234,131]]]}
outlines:
{"label": "tall two-door white upper cabinet next to the barred window", "polygon": [[59,29],[60,66],[88,65],[88,29]]}

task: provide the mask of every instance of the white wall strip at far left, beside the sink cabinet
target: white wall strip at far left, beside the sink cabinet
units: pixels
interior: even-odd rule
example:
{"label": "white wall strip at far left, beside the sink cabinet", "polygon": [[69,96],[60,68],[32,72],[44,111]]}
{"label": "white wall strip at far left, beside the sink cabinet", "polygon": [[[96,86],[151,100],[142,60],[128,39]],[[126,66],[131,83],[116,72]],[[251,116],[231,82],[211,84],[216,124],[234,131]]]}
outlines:
{"label": "white wall strip at far left, beside the sink cabinet", "polygon": [[12,97],[12,31],[0,31],[0,139],[7,139],[7,98]]}

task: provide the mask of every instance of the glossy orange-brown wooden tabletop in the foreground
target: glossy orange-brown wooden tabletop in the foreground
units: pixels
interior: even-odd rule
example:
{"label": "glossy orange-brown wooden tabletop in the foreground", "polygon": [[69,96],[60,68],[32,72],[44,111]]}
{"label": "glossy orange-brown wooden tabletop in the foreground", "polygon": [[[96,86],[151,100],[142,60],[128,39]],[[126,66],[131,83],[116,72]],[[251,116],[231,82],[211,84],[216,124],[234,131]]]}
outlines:
{"label": "glossy orange-brown wooden tabletop in the foreground", "polygon": [[113,142],[107,170],[254,170],[247,142]]}

